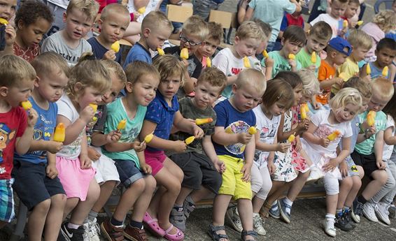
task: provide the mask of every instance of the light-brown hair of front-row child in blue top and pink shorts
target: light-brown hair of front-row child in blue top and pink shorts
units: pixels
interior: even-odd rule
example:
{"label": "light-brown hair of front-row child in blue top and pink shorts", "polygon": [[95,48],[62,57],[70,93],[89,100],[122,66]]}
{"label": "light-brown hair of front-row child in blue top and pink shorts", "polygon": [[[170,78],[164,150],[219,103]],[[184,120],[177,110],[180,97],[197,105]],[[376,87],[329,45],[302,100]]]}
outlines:
{"label": "light-brown hair of front-row child in blue top and pink shorts", "polygon": [[181,79],[181,86],[184,85],[185,66],[182,61],[170,54],[165,54],[157,57],[153,62],[155,68],[160,72],[160,80],[166,80],[171,76],[179,76]]}

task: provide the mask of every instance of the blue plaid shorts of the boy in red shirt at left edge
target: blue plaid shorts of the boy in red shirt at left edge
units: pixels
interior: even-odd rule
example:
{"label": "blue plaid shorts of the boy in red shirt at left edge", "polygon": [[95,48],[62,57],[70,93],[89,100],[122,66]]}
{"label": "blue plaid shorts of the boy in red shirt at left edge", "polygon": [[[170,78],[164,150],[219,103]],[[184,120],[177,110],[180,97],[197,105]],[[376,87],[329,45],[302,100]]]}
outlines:
{"label": "blue plaid shorts of the boy in red shirt at left edge", "polygon": [[0,180],[0,221],[10,223],[15,217],[13,178]]}

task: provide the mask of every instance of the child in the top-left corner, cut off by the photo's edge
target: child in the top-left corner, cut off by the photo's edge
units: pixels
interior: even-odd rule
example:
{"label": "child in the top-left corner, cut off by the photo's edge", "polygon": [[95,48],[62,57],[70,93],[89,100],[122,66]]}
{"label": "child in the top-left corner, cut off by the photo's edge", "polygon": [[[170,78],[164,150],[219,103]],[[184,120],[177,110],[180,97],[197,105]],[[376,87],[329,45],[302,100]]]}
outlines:
{"label": "child in the top-left corner, cut off by the photo's edge", "polygon": [[[4,0],[0,8],[0,16],[7,22],[15,15],[17,0]],[[11,24],[0,24],[0,57],[6,54],[14,54],[15,29]]]}

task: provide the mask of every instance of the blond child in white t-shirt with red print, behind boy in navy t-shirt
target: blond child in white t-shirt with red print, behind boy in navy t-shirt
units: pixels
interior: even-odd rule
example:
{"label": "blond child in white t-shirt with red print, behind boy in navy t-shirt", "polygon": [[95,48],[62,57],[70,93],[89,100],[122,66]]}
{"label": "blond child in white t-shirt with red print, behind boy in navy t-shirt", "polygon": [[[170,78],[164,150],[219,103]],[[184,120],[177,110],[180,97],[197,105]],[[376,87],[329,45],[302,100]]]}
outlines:
{"label": "blond child in white t-shirt with red print, behind boy in navy t-shirt", "polygon": [[213,66],[216,66],[227,76],[227,86],[222,91],[222,98],[229,98],[239,72],[247,68],[243,64],[243,57],[255,54],[264,36],[260,27],[255,22],[243,22],[236,30],[234,45],[231,48],[224,48],[213,58]]}

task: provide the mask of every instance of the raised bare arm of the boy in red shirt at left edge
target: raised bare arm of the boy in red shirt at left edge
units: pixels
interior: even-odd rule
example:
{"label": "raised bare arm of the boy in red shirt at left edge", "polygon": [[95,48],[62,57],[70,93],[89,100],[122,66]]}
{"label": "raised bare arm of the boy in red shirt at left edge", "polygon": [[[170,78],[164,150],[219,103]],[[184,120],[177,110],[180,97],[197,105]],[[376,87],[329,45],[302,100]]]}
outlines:
{"label": "raised bare arm of the boy in red shirt at left edge", "polygon": [[33,140],[34,125],[37,122],[37,112],[33,108],[29,110],[29,115],[27,115],[27,127],[21,137],[15,140],[15,152],[17,154],[23,155],[29,151],[31,140]]}

